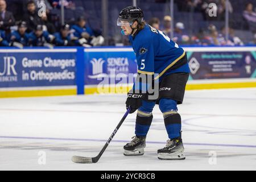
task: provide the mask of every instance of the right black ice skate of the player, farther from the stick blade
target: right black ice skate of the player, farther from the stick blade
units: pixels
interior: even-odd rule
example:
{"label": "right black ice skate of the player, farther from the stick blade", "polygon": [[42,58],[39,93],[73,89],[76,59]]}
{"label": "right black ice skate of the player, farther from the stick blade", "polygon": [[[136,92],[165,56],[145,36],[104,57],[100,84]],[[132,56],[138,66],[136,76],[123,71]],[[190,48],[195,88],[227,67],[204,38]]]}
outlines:
{"label": "right black ice skate of the player, farther from the stick blade", "polygon": [[181,137],[167,140],[166,147],[158,150],[158,159],[182,160],[184,147]]}

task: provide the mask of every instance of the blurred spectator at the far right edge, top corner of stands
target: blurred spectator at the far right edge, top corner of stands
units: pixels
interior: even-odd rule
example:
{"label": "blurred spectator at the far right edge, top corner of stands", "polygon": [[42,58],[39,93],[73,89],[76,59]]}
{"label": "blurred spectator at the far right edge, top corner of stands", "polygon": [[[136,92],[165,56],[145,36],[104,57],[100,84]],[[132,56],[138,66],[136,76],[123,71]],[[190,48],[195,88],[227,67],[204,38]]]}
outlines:
{"label": "blurred spectator at the far right edge, top corner of stands", "polygon": [[256,32],[256,13],[253,11],[253,4],[248,3],[243,11],[243,18],[247,21],[251,31]]}

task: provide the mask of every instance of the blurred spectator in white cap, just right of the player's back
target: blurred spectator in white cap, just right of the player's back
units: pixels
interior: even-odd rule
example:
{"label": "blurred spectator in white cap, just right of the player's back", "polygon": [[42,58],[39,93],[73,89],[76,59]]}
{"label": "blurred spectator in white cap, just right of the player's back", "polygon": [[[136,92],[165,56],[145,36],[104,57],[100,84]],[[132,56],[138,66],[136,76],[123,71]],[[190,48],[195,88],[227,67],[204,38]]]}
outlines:
{"label": "blurred spectator in white cap, just right of the player's back", "polygon": [[177,22],[174,30],[174,38],[172,38],[172,40],[174,40],[174,42],[176,42],[177,44],[189,44],[189,36],[185,35],[183,33],[183,30],[184,24],[181,22]]}

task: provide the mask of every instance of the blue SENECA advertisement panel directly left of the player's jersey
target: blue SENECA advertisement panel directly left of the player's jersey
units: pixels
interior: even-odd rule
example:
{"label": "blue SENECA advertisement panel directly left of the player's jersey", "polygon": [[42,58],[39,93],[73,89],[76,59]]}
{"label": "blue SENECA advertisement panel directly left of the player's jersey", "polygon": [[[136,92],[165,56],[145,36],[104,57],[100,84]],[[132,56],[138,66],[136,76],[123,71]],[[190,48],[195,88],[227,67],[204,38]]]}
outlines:
{"label": "blue SENECA advertisement panel directly left of the player's jersey", "polygon": [[132,48],[85,49],[85,85],[133,83],[136,75]]}

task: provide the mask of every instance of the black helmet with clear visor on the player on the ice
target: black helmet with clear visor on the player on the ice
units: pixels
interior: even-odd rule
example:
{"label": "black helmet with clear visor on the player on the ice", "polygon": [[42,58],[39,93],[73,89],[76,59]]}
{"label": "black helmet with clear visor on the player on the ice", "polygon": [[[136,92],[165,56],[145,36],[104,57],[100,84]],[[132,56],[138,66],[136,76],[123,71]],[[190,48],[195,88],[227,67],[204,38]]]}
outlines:
{"label": "black helmet with clear visor on the player on the ice", "polygon": [[141,23],[143,20],[143,11],[136,6],[128,6],[119,13],[117,19],[117,26],[125,25],[125,23],[133,24],[133,22],[137,21]]}

